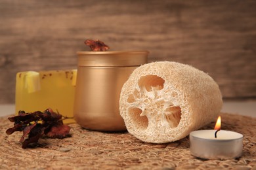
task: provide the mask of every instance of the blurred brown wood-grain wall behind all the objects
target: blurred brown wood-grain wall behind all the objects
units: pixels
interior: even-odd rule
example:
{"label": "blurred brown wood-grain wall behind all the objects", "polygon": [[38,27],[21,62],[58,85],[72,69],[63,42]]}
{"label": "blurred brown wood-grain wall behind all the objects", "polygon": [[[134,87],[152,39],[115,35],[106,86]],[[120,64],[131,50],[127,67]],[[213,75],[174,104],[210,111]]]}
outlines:
{"label": "blurred brown wood-grain wall behind all the objects", "polygon": [[209,73],[224,99],[256,97],[256,1],[0,1],[0,103],[18,71],[74,69],[85,39]]}

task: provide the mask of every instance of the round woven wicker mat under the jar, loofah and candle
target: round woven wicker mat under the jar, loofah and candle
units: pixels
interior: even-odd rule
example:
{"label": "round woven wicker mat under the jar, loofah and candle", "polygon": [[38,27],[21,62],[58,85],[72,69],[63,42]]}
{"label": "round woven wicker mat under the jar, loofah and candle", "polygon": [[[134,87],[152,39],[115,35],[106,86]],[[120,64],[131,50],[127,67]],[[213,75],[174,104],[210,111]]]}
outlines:
{"label": "round woven wicker mat under the jar, loofah and candle", "polygon": [[[190,154],[188,137],[174,143],[144,143],[127,132],[102,133],[70,124],[72,137],[39,139],[36,148],[22,149],[21,132],[0,118],[1,169],[256,169],[256,118],[223,113],[222,129],[244,134],[237,160],[202,160]],[[203,129],[212,129],[214,122]]]}

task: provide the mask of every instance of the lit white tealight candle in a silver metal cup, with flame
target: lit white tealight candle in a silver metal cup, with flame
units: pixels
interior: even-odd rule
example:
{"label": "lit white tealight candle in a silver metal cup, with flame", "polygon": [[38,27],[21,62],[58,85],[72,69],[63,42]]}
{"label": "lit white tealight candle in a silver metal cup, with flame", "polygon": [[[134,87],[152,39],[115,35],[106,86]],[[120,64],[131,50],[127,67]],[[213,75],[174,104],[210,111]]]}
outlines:
{"label": "lit white tealight candle in a silver metal cup, with flame", "polygon": [[209,160],[239,158],[243,150],[243,135],[234,131],[221,130],[219,116],[213,130],[199,130],[190,133],[192,155]]}

